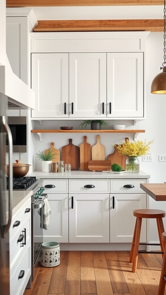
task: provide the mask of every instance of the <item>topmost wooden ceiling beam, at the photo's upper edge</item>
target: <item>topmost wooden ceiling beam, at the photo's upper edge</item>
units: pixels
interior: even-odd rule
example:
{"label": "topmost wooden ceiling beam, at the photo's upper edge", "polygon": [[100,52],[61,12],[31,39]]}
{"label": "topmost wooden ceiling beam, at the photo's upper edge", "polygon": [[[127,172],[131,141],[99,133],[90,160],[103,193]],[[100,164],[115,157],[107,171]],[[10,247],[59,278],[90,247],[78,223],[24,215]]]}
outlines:
{"label": "topmost wooden ceiling beam, at the photo's upper edge", "polygon": [[163,5],[164,0],[6,0],[6,7]]}

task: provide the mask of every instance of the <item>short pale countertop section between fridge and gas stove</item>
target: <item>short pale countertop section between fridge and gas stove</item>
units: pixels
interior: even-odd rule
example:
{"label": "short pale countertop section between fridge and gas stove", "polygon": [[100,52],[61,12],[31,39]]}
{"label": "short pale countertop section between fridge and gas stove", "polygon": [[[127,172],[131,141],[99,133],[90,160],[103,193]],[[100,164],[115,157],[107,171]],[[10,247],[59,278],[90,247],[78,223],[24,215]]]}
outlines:
{"label": "short pale countertop section between fridge and gas stove", "polygon": [[13,191],[12,216],[25,204],[32,194],[33,191]]}

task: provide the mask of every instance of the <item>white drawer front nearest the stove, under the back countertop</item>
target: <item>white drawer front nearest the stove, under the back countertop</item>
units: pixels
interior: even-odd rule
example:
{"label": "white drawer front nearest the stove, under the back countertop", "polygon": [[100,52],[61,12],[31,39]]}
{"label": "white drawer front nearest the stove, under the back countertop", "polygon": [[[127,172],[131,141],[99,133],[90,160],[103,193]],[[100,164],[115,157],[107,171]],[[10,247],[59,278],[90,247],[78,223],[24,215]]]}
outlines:
{"label": "white drawer front nearest the stove, under the back countertop", "polygon": [[[53,185],[53,188],[46,188],[45,186]],[[44,193],[68,193],[68,179],[44,179],[43,186],[45,187]]]}

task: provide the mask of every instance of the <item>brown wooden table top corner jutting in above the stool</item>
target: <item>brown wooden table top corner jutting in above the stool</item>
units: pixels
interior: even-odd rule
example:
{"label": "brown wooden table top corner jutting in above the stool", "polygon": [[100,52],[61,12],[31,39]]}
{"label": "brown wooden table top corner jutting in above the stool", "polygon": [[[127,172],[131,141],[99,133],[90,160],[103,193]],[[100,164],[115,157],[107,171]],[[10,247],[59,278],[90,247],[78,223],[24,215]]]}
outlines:
{"label": "brown wooden table top corner jutting in above the stool", "polygon": [[166,183],[140,183],[140,188],[154,200],[166,201]]}

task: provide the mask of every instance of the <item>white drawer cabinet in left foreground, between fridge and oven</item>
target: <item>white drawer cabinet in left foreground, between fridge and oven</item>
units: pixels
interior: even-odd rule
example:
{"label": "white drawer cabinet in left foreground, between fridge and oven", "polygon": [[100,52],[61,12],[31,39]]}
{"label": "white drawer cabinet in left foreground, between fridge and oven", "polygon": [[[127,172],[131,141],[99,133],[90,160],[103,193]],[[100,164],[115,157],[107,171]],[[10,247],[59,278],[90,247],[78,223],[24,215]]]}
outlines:
{"label": "white drawer cabinet in left foreground, between fridge and oven", "polygon": [[9,259],[10,295],[22,295],[31,275],[31,198],[12,218]]}

